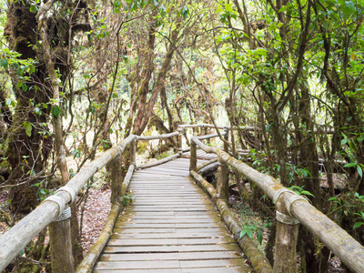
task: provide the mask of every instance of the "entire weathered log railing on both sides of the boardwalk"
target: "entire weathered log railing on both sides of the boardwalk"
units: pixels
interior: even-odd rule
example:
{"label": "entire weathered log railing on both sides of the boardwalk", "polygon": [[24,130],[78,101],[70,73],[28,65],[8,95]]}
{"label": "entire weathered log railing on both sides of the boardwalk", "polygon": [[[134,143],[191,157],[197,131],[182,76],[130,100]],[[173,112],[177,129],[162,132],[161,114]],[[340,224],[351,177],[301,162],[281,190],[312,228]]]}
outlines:
{"label": "entire weathered log railing on both sides of the boardwalk", "polygon": [[[276,272],[286,272],[287,267],[294,267],[296,260],[296,244],[298,225],[297,220],[308,228],[313,234],[318,236],[324,244],[331,249],[341,260],[352,270],[356,272],[364,272],[364,248],[349,236],[349,234],[331,221],[328,217],[319,212],[318,209],[312,207],[308,201],[296,195],[293,191],[283,187],[278,181],[267,175],[261,174],[252,167],[243,162],[230,157],[228,154],[228,131],[238,129],[230,126],[212,126],[207,124],[199,125],[182,125],[178,126],[177,132],[158,135],[158,136],[128,136],[120,145],[112,147],[106,152],[102,153],[94,161],[90,162],[86,167],[83,167],[79,173],[73,177],[65,187],[58,189],[54,196],[45,199],[42,204],[35,208],[35,210],[20,220],[14,227],[10,228],[3,236],[0,237],[0,271],[5,267],[25,248],[25,246],[35,236],[48,225],[52,225],[59,219],[60,216],[65,215],[68,207],[74,202],[77,193],[86,185],[86,182],[96,174],[98,170],[109,164],[112,167],[112,185],[111,185],[111,201],[112,207],[109,217],[106,221],[106,227],[102,231],[96,243],[87,252],[86,257],[76,269],[76,272],[89,272],[98,258],[100,252],[105,247],[108,238],[111,235],[112,227],[116,221],[118,211],[123,206],[123,198],[126,195],[128,183],[132,177],[135,168],[151,167],[157,164],[166,162],[181,155],[183,150],[182,138],[185,135],[187,128],[216,128],[217,134],[207,136],[193,136],[190,139],[190,170],[191,176],[197,178],[204,184],[203,178],[197,174],[197,147],[200,147],[207,153],[214,153],[217,155],[217,189],[213,188],[210,184],[206,184],[208,193],[217,202],[217,207],[220,209],[222,217],[227,221],[228,227],[233,234],[236,235],[240,246],[245,252],[249,252],[253,244],[249,242],[248,238],[239,238],[238,224],[235,222],[231,214],[229,214],[225,207],[224,202],[228,196],[228,167],[232,167],[238,174],[248,177],[248,179],[258,185],[268,197],[270,197],[277,206],[278,211],[278,229],[277,229],[277,244],[275,254],[274,270]],[[219,132],[223,130],[223,132]],[[254,127],[239,127],[240,130],[253,131],[257,130]],[[201,140],[209,139],[212,137],[221,137],[224,141],[224,149],[217,147],[207,147]],[[165,159],[159,160],[146,165],[136,166],[136,142],[138,140],[153,140],[164,139],[170,137],[177,137],[177,151],[176,155],[172,155]],[[130,167],[126,173],[124,181],[120,181],[121,177],[121,157],[125,153],[126,148],[129,148]],[[61,219],[62,219],[61,217]],[[294,218],[292,218],[294,217]],[[62,222],[69,221],[69,218],[63,219]],[[64,227],[69,228],[68,225]],[[69,233],[65,233],[69,234]],[[285,240],[281,240],[282,234],[286,236]],[[53,235],[50,234],[52,237]],[[70,238],[62,238],[62,234],[56,234],[57,242],[69,245]],[[288,238],[288,239],[287,239]],[[51,238],[51,242],[54,241]],[[52,246],[51,246],[52,248]],[[289,251],[288,251],[289,249]],[[60,259],[62,257],[62,259]],[[67,258],[65,258],[67,257]],[[69,246],[64,248],[64,253],[57,257],[52,256],[52,265],[60,264],[66,267],[65,263],[71,263],[68,268],[72,268],[72,249]],[[252,263],[255,261],[263,261],[267,264],[267,270],[263,269],[259,272],[269,272],[268,261],[259,253],[254,252],[250,258]],[[280,262],[279,262],[280,261]],[[288,263],[288,261],[292,261]],[[261,264],[261,262],[260,262]],[[254,265],[253,265],[254,267]],[[73,269],[72,269],[73,270]],[[53,272],[62,271],[61,269],[53,268]],[[72,271],[69,271],[72,272]]]}

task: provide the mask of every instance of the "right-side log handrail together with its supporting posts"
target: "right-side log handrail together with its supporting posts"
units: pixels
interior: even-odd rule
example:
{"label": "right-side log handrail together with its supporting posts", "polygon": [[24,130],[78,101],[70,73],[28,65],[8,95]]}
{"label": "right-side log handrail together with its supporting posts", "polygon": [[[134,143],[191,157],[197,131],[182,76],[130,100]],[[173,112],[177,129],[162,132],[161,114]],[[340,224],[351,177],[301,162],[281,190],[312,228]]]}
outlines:
{"label": "right-side log handrail together with its supporting posts", "polygon": [[[204,181],[197,175],[197,147],[207,153],[217,155],[217,190],[210,185],[207,191],[218,200],[224,200],[228,195],[228,167],[232,167],[239,175],[247,177],[260,187],[273,201],[277,208],[277,231],[275,246],[274,272],[294,272],[296,265],[296,245],[298,240],[298,224],[307,227],[317,236],[341,261],[354,272],[364,272],[364,248],[352,238],[348,232],[334,221],[309,204],[304,197],[298,196],[292,190],[283,187],[274,177],[259,173],[247,164],[231,157],[227,146],[223,149],[204,145],[201,140],[206,136],[193,136],[190,140],[190,170],[191,176]],[[218,202],[217,202],[218,203]],[[235,230],[233,233],[238,233]],[[254,265],[253,265],[254,268]]]}

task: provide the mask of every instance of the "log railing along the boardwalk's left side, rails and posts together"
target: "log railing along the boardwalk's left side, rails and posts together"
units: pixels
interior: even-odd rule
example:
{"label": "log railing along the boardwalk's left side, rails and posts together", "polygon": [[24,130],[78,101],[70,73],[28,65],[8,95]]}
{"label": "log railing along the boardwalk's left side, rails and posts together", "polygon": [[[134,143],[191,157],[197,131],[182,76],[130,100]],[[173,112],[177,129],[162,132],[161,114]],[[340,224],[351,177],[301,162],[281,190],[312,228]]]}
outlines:
{"label": "log railing along the boardwalk's left side, rails and posts together", "polygon": [[[116,221],[118,211],[121,207],[123,207],[124,196],[126,195],[128,183],[132,177],[134,169],[136,167],[146,167],[145,165],[136,166],[136,142],[138,140],[164,139],[175,136],[179,138],[181,137],[178,132],[158,136],[128,136],[120,145],[111,147],[99,157],[96,157],[95,160],[87,164],[86,167],[83,167],[81,171],[66,184],[65,187],[60,187],[56,191],[55,195],[47,197],[38,207],[35,208],[33,212],[21,219],[14,227],[7,230],[4,235],[0,236],[0,271],[3,271],[6,266],[25,248],[25,246],[45,227],[53,225],[53,223],[56,223],[56,221],[59,220],[64,223],[62,227],[70,228],[69,206],[75,201],[78,192],[85,187],[86,182],[102,167],[109,164],[112,168],[112,207],[106,220],[106,227],[103,229],[100,237],[97,239],[93,247],[87,252],[86,257],[76,270],[77,272],[90,271],[111,235],[112,227]],[[182,143],[182,141],[179,140],[177,143]],[[130,167],[128,168],[124,181],[120,181],[120,177],[122,177],[121,157],[127,147],[129,147],[130,150]],[[154,162],[149,166],[161,164],[177,156],[179,156],[179,154]],[[65,235],[68,235],[68,237]],[[56,254],[51,257],[52,272],[65,272],[64,268],[69,268],[67,272],[73,272],[73,255],[72,248],[70,248],[71,238],[69,238],[69,235],[70,232],[50,234],[51,248],[62,249],[59,255]],[[61,244],[61,246],[53,246],[53,242],[57,242],[56,244]],[[60,266],[54,268],[54,265]]]}

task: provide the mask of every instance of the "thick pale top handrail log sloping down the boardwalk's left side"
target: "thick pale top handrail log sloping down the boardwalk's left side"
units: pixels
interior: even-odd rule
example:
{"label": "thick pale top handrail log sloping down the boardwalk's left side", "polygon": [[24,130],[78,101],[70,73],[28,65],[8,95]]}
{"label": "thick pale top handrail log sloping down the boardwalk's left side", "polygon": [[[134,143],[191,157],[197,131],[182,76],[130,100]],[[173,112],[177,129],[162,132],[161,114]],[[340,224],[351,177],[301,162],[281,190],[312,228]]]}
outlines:
{"label": "thick pale top handrail log sloping down the boardwalk's left side", "polygon": [[[73,190],[76,195],[99,169],[106,166],[106,164],[118,154],[122,154],[135,138],[136,136],[134,135],[126,137],[120,145],[111,147],[95,160],[87,164],[86,167],[83,167],[81,171],[66,184],[68,190]],[[55,196],[58,199],[58,202],[48,199],[48,197],[42,204],[36,207],[33,212],[21,219],[14,227],[10,228],[0,237],[0,271],[4,270],[43,228],[57,219],[58,215],[60,215],[65,208],[64,206],[62,207],[62,203],[70,204],[72,201],[71,195],[64,190],[56,192]]]}

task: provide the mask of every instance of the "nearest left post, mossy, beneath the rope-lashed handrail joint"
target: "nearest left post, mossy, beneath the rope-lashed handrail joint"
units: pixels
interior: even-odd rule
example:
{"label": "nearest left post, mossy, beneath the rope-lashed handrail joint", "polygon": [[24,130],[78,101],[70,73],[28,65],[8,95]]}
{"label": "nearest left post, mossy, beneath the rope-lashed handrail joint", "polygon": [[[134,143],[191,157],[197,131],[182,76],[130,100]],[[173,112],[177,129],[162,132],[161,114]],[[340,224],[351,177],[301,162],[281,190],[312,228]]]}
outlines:
{"label": "nearest left post, mossy, beneath the rope-lashed handrail joint", "polygon": [[51,268],[55,273],[73,273],[74,262],[72,255],[71,239],[71,208],[67,207],[61,217],[66,215],[66,219],[59,218],[58,221],[50,223],[49,243],[51,252]]}

